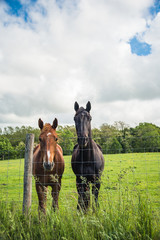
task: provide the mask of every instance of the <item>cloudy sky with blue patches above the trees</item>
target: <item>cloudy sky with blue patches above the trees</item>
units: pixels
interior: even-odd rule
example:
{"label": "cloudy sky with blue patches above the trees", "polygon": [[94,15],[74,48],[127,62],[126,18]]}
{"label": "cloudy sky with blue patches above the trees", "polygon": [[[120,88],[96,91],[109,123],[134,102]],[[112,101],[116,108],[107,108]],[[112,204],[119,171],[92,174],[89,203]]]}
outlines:
{"label": "cloudy sky with blue patches above the trees", "polygon": [[160,0],[0,0],[0,128],[160,126]]}

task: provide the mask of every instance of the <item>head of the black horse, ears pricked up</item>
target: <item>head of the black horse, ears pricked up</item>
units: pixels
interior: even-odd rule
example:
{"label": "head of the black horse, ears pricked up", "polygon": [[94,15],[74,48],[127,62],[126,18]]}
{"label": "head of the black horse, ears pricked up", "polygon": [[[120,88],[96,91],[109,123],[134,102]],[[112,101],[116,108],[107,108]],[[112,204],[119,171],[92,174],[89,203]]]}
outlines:
{"label": "head of the black horse, ears pricked up", "polygon": [[86,104],[86,109],[79,108],[79,104],[75,102],[74,109],[76,111],[74,121],[76,125],[76,131],[78,136],[78,144],[81,148],[86,148],[91,138],[91,103]]}

